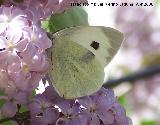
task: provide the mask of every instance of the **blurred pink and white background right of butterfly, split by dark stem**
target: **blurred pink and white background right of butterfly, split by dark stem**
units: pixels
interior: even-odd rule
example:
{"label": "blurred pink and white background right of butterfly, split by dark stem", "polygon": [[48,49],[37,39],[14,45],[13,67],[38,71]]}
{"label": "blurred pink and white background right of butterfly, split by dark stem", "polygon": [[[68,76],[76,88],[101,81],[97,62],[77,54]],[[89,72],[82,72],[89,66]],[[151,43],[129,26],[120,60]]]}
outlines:
{"label": "blurred pink and white background right of butterfly, split by dark stem", "polygon": [[[113,27],[125,34],[120,51],[105,68],[106,81],[160,65],[160,0],[89,2],[153,3],[153,6],[85,7],[90,25]],[[122,82],[114,90],[133,125],[160,125],[160,74]]]}

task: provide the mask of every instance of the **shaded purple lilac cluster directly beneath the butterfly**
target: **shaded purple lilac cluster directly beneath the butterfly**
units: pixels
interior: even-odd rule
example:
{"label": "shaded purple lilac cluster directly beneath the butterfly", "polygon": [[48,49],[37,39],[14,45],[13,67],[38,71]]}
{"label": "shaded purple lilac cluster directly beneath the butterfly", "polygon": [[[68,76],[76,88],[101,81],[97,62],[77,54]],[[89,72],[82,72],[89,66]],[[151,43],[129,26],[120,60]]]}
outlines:
{"label": "shaded purple lilac cluster directly beneath the butterfly", "polygon": [[65,100],[51,86],[30,103],[33,125],[132,125],[110,89],[91,96]]}

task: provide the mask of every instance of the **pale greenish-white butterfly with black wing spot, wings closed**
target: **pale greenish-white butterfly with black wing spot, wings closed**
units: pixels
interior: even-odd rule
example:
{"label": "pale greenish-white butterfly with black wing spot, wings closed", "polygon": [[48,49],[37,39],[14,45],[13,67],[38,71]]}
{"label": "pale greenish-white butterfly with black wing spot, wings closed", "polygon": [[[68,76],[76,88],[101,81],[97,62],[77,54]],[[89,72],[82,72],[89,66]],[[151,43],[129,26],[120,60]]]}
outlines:
{"label": "pale greenish-white butterfly with black wing spot, wings closed", "polygon": [[59,95],[72,99],[102,86],[104,67],[119,49],[123,35],[109,27],[80,26],[61,30],[52,39],[49,76]]}

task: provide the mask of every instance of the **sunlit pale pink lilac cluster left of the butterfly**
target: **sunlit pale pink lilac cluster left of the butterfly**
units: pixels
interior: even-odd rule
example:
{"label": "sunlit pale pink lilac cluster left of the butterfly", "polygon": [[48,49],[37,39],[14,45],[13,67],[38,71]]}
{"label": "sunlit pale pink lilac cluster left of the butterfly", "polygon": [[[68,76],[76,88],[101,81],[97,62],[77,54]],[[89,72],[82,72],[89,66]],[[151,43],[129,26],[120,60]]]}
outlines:
{"label": "sunlit pale pink lilac cluster left of the butterfly", "polygon": [[[64,11],[67,0],[3,0],[0,6],[1,116],[12,117],[17,104],[27,105],[49,68],[45,50],[52,45],[41,20]],[[74,1],[73,1],[74,2]],[[66,6],[64,6],[66,5]],[[10,109],[10,110],[7,110]]]}

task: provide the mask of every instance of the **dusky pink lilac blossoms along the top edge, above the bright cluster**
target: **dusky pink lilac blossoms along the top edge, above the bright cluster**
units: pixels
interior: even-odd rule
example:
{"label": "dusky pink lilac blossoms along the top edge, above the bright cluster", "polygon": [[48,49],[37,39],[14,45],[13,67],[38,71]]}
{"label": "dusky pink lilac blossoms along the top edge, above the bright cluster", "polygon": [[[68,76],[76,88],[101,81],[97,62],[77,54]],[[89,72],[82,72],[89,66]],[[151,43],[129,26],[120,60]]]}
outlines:
{"label": "dusky pink lilac blossoms along the top edge, above the bright cluster", "polygon": [[[18,2],[16,2],[18,1]],[[51,14],[60,13],[71,7],[71,3],[87,2],[87,0],[4,0],[7,6],[28,9],[36,19],[46,19]]]}

